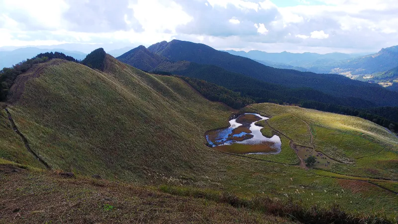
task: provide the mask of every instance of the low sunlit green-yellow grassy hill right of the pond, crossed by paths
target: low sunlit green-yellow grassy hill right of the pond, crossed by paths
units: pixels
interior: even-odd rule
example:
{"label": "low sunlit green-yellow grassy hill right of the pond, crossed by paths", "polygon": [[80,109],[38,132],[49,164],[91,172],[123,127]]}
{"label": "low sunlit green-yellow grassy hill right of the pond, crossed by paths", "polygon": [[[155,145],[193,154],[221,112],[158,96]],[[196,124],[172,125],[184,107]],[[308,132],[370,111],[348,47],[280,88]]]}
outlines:
{"label": "low sunlit green-yellow grassy hill right of the pond, crossed by paths", "polygon": [[256,104],[250,108],[272,116],[268,123],[296,144],[314,147],[338,161],[331,165],[333,172],[398,180],[398,138],[382,126],[298,107]]}

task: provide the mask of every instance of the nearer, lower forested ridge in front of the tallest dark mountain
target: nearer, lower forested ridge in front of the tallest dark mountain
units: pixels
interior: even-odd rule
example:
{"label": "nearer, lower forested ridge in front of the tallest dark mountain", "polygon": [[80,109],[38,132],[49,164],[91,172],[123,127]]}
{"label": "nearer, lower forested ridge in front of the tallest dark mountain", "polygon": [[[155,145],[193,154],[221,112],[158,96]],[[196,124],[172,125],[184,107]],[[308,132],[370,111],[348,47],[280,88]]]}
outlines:
{"label": "nearer, lower forested ridge in front of the tallest dark mountain", "polygon": [[154,54],[143,46],[135,48],[117,58],[144,71],[156,74],[167,72],[210,83],[240,92],[257,103],[275,102],[300,104],[302,101],[316,101],[350,107],[376,107],[377,104],[359,98],[339,98],[310,88],[289,88],[279,84],[263,82],[239,73],[229,72],[214,65],[204,65],[189,61],[173,62]]}

